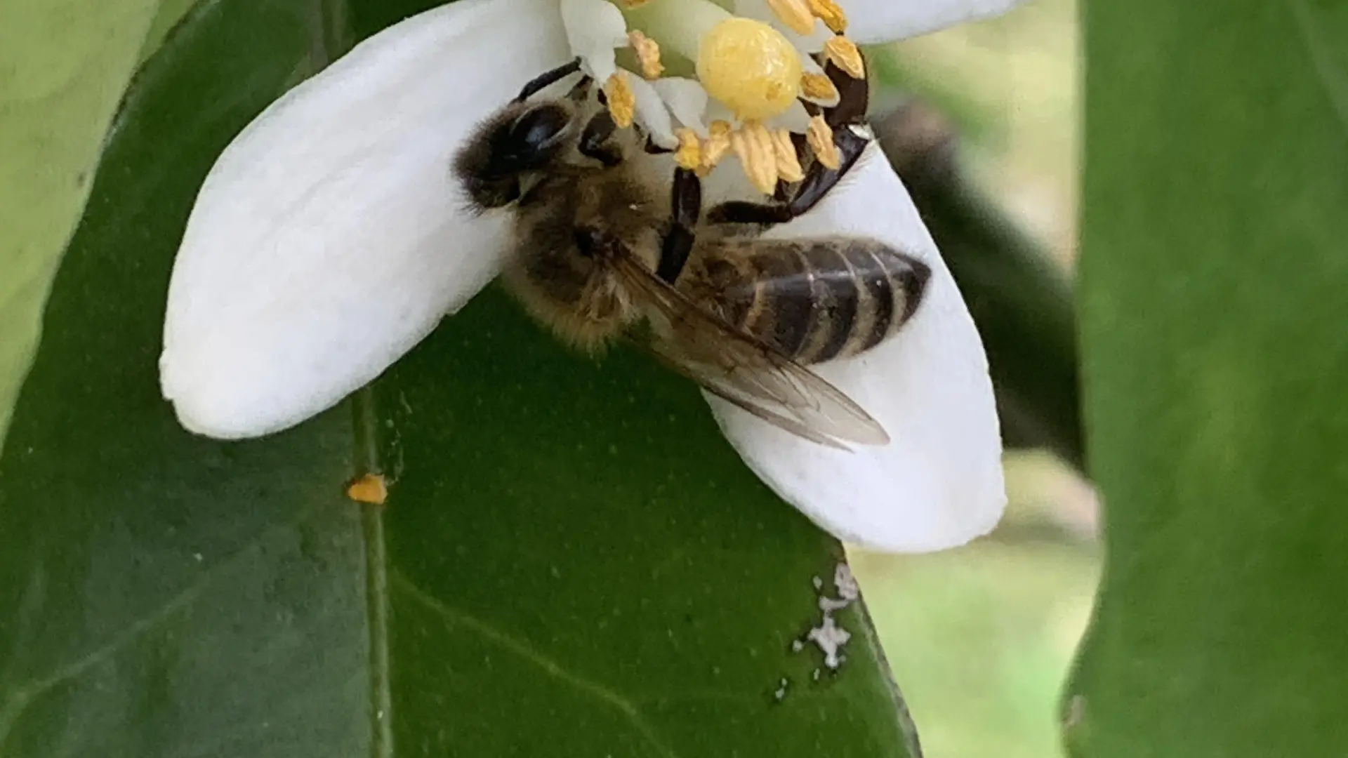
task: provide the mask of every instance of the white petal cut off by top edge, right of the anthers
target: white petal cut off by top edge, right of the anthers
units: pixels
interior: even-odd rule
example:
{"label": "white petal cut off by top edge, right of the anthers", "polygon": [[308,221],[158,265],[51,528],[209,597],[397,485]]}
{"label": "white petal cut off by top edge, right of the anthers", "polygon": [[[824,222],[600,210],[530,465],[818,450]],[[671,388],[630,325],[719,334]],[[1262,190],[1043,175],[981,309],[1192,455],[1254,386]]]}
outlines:
{"label": "white petal cut off by top edge, right of the anthers", "polygon": [[848,18],[847,34],[875,45],[927,34],[964,22],[999,16],[1020,0],[837,0]]}

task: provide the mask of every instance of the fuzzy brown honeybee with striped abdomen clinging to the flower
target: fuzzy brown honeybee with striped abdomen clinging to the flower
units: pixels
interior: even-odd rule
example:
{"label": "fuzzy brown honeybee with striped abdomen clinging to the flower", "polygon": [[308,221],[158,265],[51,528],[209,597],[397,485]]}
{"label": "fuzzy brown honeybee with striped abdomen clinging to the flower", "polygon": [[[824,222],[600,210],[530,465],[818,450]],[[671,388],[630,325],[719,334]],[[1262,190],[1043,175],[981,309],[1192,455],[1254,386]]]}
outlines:
{"label": "fuzzy brown honeybee with striped abdomen clinging to the flower", "polygon": [[584,76],[565,96],[532,97],[576,70],[530,82],[454,158],[473,209],[512,214],[506,287],[577,348],[631,337],[806,440],[887,444],[879,422],[806,366],[895,334],[921,305],[930,268],[874,239],[759,235],[807,210],[836,178],[806,178],[816,194],[806,204],[727,202],[701,220],[697,175],[678,169],[673,185],[662,181],[647,163],[650,143],[615,128]]}

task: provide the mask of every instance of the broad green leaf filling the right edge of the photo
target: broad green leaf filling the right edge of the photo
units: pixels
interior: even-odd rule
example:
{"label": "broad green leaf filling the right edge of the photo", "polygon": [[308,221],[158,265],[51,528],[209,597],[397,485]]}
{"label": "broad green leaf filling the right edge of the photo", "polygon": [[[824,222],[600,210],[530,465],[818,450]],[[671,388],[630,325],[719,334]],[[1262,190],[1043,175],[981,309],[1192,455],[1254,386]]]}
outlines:
{"label": "broad green leaf filling the right edge of the photo", "polygon": [[1082,757],[1343,755],[1348,3],[1092,3]]}

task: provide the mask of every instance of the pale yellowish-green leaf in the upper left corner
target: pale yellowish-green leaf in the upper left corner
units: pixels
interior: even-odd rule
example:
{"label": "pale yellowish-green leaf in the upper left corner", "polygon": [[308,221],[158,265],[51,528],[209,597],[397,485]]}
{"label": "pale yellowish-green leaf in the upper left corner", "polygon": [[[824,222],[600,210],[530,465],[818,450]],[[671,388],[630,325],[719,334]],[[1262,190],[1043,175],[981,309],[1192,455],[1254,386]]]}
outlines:
{"label": "pale yellowish-green leaf in the upper left corner", "polygon": [[156,0],[0,5],[0,440]]}

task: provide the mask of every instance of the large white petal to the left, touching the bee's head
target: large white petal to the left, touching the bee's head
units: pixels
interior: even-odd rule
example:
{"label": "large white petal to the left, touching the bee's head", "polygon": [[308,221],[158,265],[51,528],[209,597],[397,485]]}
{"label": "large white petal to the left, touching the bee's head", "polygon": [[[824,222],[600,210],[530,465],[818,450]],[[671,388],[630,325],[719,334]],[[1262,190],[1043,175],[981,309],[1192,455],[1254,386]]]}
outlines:
{"label": "large white petal to the left, touching the bee's head", "polygon": [[489,282],[501,221],[449,173],[468,129],[569,58],[555,0],[464,0],[359,45],[221,154],[168,287],[160,383],[214,437],[284,429]]}

